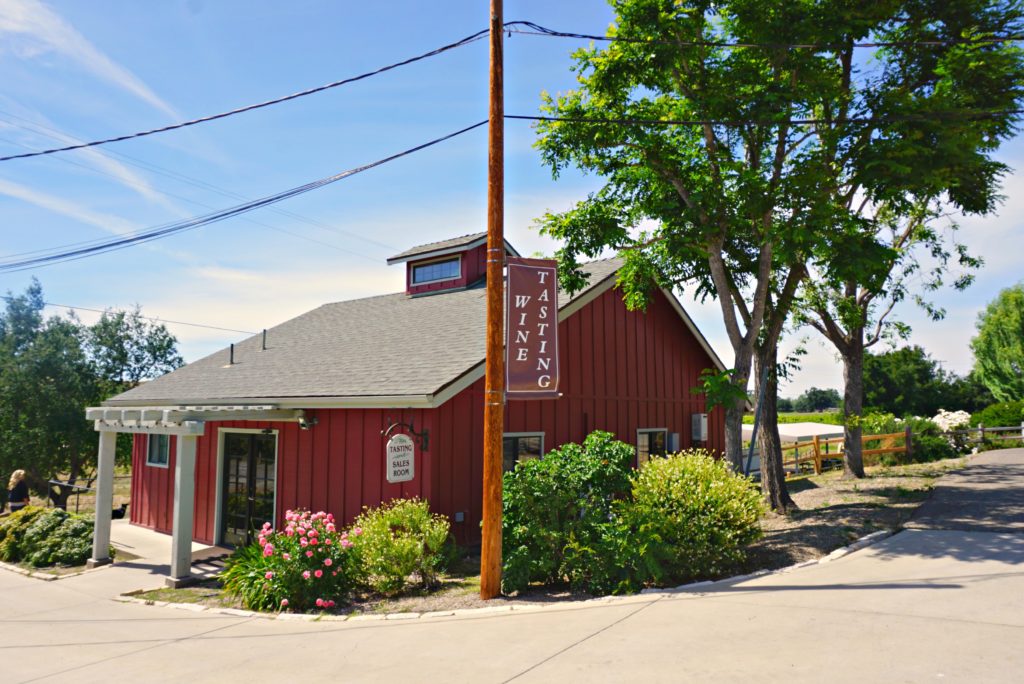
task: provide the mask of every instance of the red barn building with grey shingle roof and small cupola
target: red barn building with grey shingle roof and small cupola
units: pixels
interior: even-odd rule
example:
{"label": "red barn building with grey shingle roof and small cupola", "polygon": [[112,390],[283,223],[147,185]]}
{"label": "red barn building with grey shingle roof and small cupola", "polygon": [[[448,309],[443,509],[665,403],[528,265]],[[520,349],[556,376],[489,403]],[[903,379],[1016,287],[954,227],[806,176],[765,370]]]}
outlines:
{"label": "red barn building with grey shingle roof and small cupola", "polygon": [[[459,541],[479,539],[485,242],[478,233],[398,254],[388,263],[406,264],[404,292],[325,304],[89,411],[100,466],[105,434],[135,433],[131,522],[183,527],[172,578],[187,575],[184,529],[238,545],[287,509],[349,521],[364,506],[421,497]],[[692,391],[721,361],[670,291],[645,312],[627,310],[620,266],[586,264],[587,287],[559,294],[561,396],[507,403],[506,467],[593,430],[635,444],[639,462],[723,448],[720,411],[694,433],[705,398]],[[399,432],[413,438],[414,467],[392,483],[385,444]]]}

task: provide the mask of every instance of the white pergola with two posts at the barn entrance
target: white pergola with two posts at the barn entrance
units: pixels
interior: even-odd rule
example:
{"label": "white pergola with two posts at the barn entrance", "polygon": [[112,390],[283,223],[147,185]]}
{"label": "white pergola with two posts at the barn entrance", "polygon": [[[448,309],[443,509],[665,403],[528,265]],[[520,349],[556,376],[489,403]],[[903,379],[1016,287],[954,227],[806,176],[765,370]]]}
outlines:
{"label": "white pergola with two posts at the barn entrance", "polygon": [[117,433],[167,434],[177,437],[174,463],[174,514],[171,518],[171,573],[169,587],[190,580],[193,514],[196,508],[196,442],[207,421],[290,421],[303,419],[301,409],[273,404],[215,407],[131,407],[86,409],[99,433],[96,459],[96,520],[89,567],[111,562],[111,512],[114,507],[114,452]]}

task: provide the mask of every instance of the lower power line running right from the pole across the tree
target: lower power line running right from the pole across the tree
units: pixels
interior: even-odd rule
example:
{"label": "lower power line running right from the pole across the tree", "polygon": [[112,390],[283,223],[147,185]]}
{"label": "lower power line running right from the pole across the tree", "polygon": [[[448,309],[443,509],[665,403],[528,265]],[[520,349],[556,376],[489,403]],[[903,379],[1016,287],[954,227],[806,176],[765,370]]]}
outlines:
{"label": "lower power line running right from the pole across the tree", "polygon": [[963,110],[959,112],[933,112],[920,115],[897,115],[889,117],[847,117],[845,119],[629,119],[593,117],[545,117],[522,114],[506,114],[506,119],[521,121],[552,121],[575,124],[617,124],[623,126],[809,126],[812,124],[885,124],[911,121],[972,121],[995,119],[1002,116],[1024,114],[1024,110]]}

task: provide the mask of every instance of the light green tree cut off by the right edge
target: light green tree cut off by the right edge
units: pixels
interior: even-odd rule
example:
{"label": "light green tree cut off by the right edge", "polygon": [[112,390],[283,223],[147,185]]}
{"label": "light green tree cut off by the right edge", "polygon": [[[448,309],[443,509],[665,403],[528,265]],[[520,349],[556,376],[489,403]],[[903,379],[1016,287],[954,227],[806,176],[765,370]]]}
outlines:
{"label": "light green tree cut off by the right edge", "polygon": [[974,372],[999,401],[1024,399],[1024,285],[1007,288],[978,316]]}

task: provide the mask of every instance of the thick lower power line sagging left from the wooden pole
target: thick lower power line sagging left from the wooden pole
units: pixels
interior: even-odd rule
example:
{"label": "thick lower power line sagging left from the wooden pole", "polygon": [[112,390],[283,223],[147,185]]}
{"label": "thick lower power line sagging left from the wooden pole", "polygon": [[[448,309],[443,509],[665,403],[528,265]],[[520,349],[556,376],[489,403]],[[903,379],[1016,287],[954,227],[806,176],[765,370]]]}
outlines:
{"label": "thick lower power line sagging left from the wooden pole", "polygon": [[[217,221],[222,221],[232,216],[238,216],[244,214],[254,209],[259,209],[260,207],[265,207],[271,204],[275,204],[283,200],[289,198],[297,197],[310,190],[318,189],[325,185],[342,180],[343,178],[348,178],[349,176],[354,176],[357,173],[362,173],[375,167],[387,164],[396,159],[400,159],[413,153],[420,152],[427,147],[438,144],[445,140],[450,140],[454,137],[468,133],[471,130],[479,128],[487,123],[487,120],[477,122],[471,126],[467,126],[447,135],[443,135],[438,138],[434,138],[428,142],[424,142],[416,145],[415,147],[410,147],[409,149],[403,149],[402,152],[391,155],[390,157],[385,157],[384,159],[377,160],[376,162],[371,162],[370,164],[365,164],[362,166],[355,167],[353,169],[348,169],[342,171],[333,176],[328,176],[326,178],[321,178],[319,180],[314,180],[312,182],[306,183],[304,185],[299,185],[298,187],[293,187],[275,195],[270,195],[259,200],[253,200],[251,202],[246,202],[234,207],[229,207],[227,209],[222,209],[210,214],[203,216],[197,216],[184,221],[177,221],[174,223],[163,224],[155,226],[152,228],[146,228],[143,230],[136,231],[134,233],[129,233],[127,236],[121,236],[116,239],[106,240],[101,244],[91,245],[88,247],[80,247],[78,249],[66,250],[62,252],[56,252],[53,254],[35,257],[32,259],[23,259],[18,261],[8,261],[6,263],[0,263],[0,271],[2,272],[17,272],[22,270],[28,270],[34,267],[48,265],[51,263],[63,262],[63,261],[76,261],[78,259],[84,259],[90,256],[95,256],[97,254],[102,254],[105,252],[112,252],[115,250],[126,249],[133,245],[138,245],[141,243],[152,242],[154,240],[160,240],[162,238],[167,238],[172,234],[183,232],[185,230],[191,230],[200,226],[209,225],[210,223],[215,223]],[[62,249],[62,248],[55,248]]]}

